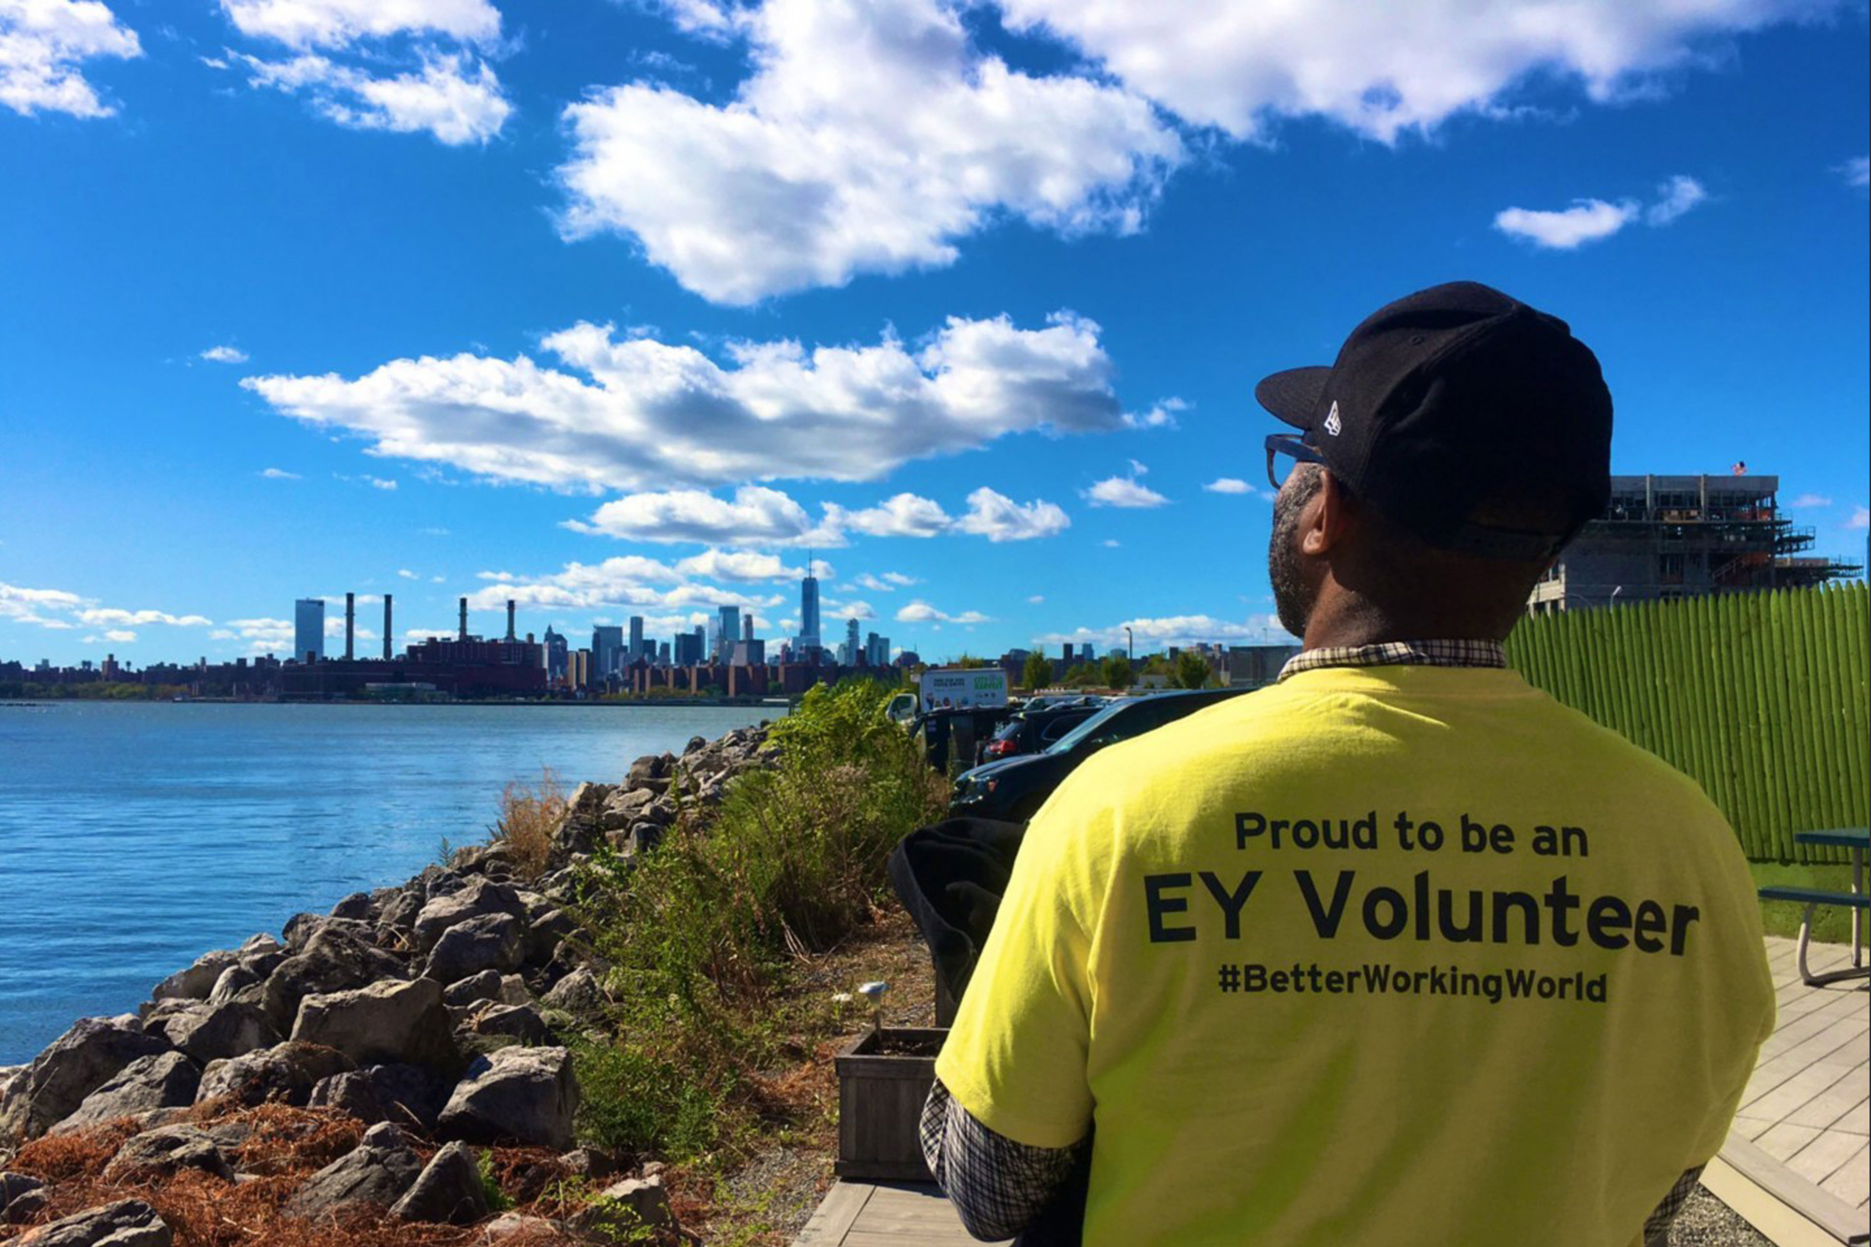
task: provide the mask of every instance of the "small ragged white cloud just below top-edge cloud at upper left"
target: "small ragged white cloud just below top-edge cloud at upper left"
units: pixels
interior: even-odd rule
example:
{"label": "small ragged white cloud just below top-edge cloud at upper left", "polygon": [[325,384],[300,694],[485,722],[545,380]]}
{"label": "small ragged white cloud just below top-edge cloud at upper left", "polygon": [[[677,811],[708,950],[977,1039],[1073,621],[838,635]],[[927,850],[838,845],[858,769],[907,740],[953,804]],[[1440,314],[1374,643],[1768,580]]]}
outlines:
{"label": "small ragged white cloud just below top-edge cloud at upper left", "polygon": [[494,71],[466,52],[427,50],[419,69],[385,77],[311,52],[241,60],[251,86],[303,93],[314,112],[348,129],[427,131],[449,146],[485,144],[513,112]]}

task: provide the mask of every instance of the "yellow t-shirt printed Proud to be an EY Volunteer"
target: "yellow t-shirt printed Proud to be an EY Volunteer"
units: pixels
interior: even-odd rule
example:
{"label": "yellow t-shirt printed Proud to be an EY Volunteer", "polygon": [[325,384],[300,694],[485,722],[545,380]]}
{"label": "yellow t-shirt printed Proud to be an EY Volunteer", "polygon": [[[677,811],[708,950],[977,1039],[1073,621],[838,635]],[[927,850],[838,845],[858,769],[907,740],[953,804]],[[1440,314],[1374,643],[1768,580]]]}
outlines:
{"label": "yellow t-shirt printed Proud to be an EY Volunteer", "polygon": [[1772,1028],[1691,780],[1512,671],[1338,667],[1066,780],[936,1073],[1096,1122],[1087,1247],[1626,1247]]}

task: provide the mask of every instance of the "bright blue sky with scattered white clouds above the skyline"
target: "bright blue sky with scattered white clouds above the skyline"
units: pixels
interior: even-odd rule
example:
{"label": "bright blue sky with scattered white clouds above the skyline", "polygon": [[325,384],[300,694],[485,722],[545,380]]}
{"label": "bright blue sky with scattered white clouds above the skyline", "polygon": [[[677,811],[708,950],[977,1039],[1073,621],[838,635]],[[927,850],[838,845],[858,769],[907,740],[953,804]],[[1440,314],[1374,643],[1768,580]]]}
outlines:
{"label": "bright blue sky with scattered white clouds above the skyline", "polygon": [[0,0],[0,656],[808,548],[924,656],[1284,639],[1254,381],[1452,279],[1862,559],[1865,97],[1820,0]]}

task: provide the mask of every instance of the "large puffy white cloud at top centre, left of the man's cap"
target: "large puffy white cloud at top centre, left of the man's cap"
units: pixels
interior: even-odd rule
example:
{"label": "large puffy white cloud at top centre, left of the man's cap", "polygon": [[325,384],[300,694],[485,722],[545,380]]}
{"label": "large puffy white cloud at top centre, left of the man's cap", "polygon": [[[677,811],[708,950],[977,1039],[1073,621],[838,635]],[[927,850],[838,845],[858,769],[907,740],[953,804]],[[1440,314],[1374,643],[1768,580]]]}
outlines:
{"label": "large puffy white cloud at top centre, left of the man's cap", "polygon": [[990,221],[1132,232],[1182,144],[1149,101],[1029,77],[939,0],[767,0],[713,105],[649,82],[565,110],[565,232],[629,234],[717,303],[956,260]]}

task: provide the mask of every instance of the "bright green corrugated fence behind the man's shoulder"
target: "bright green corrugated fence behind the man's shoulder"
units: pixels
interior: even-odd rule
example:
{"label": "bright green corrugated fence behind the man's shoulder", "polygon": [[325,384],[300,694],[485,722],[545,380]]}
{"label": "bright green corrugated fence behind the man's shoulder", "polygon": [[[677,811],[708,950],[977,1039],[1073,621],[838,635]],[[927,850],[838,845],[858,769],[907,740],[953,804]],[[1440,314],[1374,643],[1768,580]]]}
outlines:
{"label": "bright green corrugated fence behind the man's shoulder", "polygon": [[1525,619],[1508,660],[1693,776],[1759,862],[1839,862],[1794,832],[1865,826],[1864,581]]}

